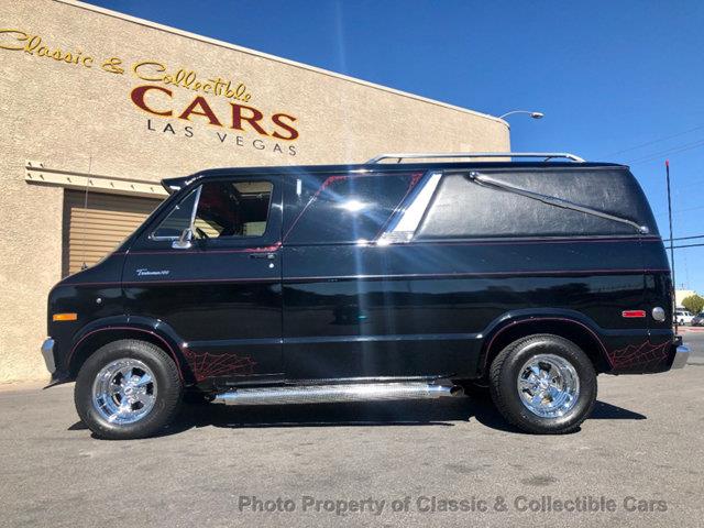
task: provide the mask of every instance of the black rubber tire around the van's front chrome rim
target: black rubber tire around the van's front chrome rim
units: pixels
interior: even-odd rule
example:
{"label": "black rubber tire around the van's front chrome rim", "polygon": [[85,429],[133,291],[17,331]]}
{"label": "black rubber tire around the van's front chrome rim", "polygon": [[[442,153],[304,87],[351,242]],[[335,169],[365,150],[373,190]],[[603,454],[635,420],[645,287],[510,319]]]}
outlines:
{"label": "black rubber tire around the van's front chrome rim", "polygon": [[[100,371],[112,362],[138,360],[153,373],[157,387],[151,410],[132,424],[113,424],[94,404],[94,383]],[[84,363],[76,377],[74,402],[80,419],[98,437],[108,440],[129,440],[151,437],[167,426],[177,415],[183,382],[172,358],[155,344],[124,339],[98,349]]]}

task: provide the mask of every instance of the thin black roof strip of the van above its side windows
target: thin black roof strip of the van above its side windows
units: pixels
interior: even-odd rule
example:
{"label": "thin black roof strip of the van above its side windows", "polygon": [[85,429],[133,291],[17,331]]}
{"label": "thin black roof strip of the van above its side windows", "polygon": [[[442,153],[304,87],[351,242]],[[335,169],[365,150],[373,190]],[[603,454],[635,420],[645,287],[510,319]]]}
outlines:
{"label": "thin black roof strip of the van above its side windows", "polygon": [[613,169],[622,168],[628,170],[627,165],[618,163],[603,162],[424,162],[424,163],[363,163],[363,164],[339,164],[339,165],[274,165],[256,167],[219,167],[199,170],[188,176],[162,179],[162,185],[170,194],[175,193],[191,183],[205,178],[217,178],[222,176],[257,176],[270,174],[288,174],[292,176],[300,173],[354,173],[354,172],[408,172],[408,170],[430,170],[430,169],[463,169],[463,168],[510,168],[510,169]]}

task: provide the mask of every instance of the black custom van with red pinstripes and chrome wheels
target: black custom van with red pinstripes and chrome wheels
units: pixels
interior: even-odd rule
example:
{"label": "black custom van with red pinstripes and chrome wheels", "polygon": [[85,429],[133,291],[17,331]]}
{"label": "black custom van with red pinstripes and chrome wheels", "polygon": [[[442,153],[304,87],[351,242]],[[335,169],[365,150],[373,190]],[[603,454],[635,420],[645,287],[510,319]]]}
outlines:
{"label": "black custom van with red pinstripes and chrome wheels", "polygon": [[164,186],[134,234],[48,296],[52,383],[76,381],[100,437],[153,435],[185,392],[261,405],[482,387],[515,426],[559,433],[590,415],[597,374],[686,362],[626,166],[393,154]]}

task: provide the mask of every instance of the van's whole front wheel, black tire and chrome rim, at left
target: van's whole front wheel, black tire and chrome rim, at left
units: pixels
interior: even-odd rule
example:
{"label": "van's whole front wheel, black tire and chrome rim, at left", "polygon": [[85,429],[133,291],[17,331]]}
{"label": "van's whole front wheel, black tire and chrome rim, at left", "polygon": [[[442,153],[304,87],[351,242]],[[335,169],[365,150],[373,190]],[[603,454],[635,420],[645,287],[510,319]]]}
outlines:
{"label": "van's whole front wheel, black tire and chrome rim, at left", "polygon": [[158,432],[178,413],[182,396],[172,358],[152,343],[131,339],[108,343],[88,358],[74,392],[84,424],[111,440]]}

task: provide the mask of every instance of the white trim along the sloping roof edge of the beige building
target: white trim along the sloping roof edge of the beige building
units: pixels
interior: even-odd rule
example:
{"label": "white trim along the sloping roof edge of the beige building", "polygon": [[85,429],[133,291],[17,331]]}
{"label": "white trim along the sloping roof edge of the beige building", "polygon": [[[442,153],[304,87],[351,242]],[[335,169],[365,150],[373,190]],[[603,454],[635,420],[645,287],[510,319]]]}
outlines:
{"label": "white trim along the sloping roof edge of the beige building", "polygon": [[188,31],[178,30],[176,28],[170,28],[168,25],[158,24],[156,22],[151,22],[148,20],[139,19],[136,16],[131,16],[129,14],[120,13],[118,11],[112,11],[112,10],[105,9],[105,8],[99,8],[97,6],[91,6],[89,3],[80,2],[80,1],[77,1],[77,0],[54,0],[54,1],[55,2],[59,2],[59,3],[65,3],[67,6],[72,6],[72,7],[75,7],[75,8],[86,9],[88,11],[95,11],[95,12],[100,13],[100,14],[105,14],[105,15],[108,15],[108,16],[113,16],[116,19],[125,20],[125,21],[132,22],[134,24],[144,25],[146,28],[152,28],[154,30],[164,31],[166,33],[173,33],[175,35],[185,36],[186,38],[193,38],[195,41],[205,42],[207,44],[212,44],[215,46],[220,46],[220,47],[224,47],[224,48],[228,48],[228,50],[233,50],[235,52],[245,53],[245,54],[249,54],[249,55],[254,55],[256,57],[266,58],[266,59],[270,59],[270,61],[274,61],[274,62],[277,62],[277,63],[285,64],[287,66],[294,66],[296,68],[307,69],[309,72],[315,72],[317,74],[327,75],[329,77],[334,77],[334,78],[338,78],[338,79],[341,79],[341,80],[346,80],[349,82],[354,82],[356,85],[366,86],[367,88],[374,88],[374,89],[377,89],[377,90],[387,91],[389,94],[395,94],[395,95],[400,96],[400,97],[407,97],[409,99],[415,99],[417,101],[427,102],[429,105],[443,107],[443,108],[447,108],[447,109],[450,109],[450,110],[455,110],[458,112],[470,113],[470,114],[475,116],[477,118],[484,118],[484,119],[488,119],[490,121],[496,121],[497,123],[504,124],[506,128],[509,128],[508,122],[506,122],[505,120],[499,119],[497,117],[490,116],[488,113],[482,113],[482,112],[477,112],[475,110],[470,110],[468,108],[457,107],[454,105],[450,105],[450,103],[447,103],[447,102],[437,101],[435,99],[429,99],[427,97],[417,96],[415,94],[409,94],[407,91],[396,90],[396,89],[389,88],[387,86],[376,85],[374,82],[369,82],[366,80],[356,79],[354,77],[349,77],[346,75],[338,74],[338,73],[330,72],[330,70],[327,70],[327,69],[322,69],[322,68],[317,68],[316,66],[310,66],[308,64],[297,63],[295,61],[289,61],[287,58],[277,57],[276,55],[270,55],[267,53],[262,53],[262,52],[257,52],[255,50],[250,50],[248,47],[237,46],[234,44],[230,44],[229,42],[219,41],[217,38],[210,38],[208,36],[198,35],[196,33],[190,33]]}

